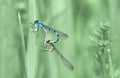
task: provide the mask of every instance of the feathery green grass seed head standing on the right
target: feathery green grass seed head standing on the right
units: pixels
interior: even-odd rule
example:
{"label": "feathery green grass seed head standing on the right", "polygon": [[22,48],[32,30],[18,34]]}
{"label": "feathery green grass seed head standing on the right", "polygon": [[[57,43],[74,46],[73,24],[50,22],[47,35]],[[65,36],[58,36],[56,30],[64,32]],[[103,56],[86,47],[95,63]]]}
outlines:
{"label": "feathery green grass seed head standing on the right", "polygon": [[95,72],[100,78],[114,78],[111,48],[112,38],[108,24],[101,24],[99,30],[95,31],[95,37],[92,38],[96,48]]}

